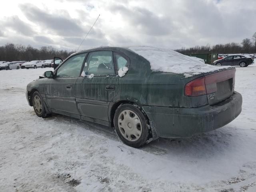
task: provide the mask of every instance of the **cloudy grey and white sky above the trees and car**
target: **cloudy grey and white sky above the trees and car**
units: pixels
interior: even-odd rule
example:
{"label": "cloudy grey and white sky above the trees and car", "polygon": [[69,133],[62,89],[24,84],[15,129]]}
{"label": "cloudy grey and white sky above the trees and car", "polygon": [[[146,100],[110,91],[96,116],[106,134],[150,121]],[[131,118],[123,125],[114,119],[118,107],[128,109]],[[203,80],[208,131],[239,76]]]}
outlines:
{"label": "cloudy grey and white sky above the trees and car", "polygon": [[5,0],[0,45],[153,45],[169,48],[242,42],[256,32],[256,0]]}

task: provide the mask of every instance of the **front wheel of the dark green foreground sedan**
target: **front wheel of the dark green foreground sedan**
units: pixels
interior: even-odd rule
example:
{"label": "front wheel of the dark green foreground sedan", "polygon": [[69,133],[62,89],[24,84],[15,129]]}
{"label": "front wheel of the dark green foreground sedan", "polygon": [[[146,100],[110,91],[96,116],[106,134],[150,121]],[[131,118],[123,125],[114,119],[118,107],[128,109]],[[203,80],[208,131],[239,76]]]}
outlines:
{"label": "front wheel of the dark green foreground sedan", "polygon": [[38,117],[45,118],[47,116],[44,100],[39,92],[34,92],[32,96],[33,108]]}

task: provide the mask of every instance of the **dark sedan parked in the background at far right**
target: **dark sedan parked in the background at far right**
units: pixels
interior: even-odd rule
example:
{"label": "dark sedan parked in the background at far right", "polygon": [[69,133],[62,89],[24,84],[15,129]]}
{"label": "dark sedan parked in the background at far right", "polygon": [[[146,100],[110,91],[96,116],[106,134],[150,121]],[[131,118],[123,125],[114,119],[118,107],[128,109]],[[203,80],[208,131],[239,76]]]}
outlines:
{"label": "dark sedan parked in the background at far right", "polygon": [[213,62],[213,65],[230,65],[230,66],[240,66],[240,67],[247,67],[248,65],[252,64],[254,58],[246,57],[243,55],[232,55],[220,60],[216,60]]}

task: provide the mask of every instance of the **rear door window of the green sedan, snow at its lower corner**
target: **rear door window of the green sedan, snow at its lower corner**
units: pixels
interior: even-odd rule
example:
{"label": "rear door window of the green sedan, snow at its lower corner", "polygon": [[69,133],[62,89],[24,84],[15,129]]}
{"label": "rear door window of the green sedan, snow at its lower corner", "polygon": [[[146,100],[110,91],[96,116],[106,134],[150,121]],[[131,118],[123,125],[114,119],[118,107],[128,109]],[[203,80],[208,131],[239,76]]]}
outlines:
{"label": "rear door window of the green sedan, snow at its lower corner", "polygon": [[112,51],[90,52],[83,71],[88,75],[115,74]]}

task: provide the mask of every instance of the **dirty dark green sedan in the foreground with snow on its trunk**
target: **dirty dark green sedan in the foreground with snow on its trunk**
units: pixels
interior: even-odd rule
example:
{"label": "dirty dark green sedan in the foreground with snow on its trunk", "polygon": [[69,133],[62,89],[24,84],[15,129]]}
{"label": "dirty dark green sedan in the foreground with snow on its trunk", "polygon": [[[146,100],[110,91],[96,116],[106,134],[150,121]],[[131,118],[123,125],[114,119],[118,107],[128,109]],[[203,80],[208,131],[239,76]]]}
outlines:
{"label": "dirty dark green sedan in the foreground with snow on its trunk", "polygon": [[[119,73],[122,68],[128,70],[125,75]],[[58,113],[111,126],[125,144],[140,147],[234,120],[242,110],[235,71],[184,78],[152,71],[148,60],[128,48],[95,48],[72,54],[54,72],[30,82],[26,98],[39,117]]]}

